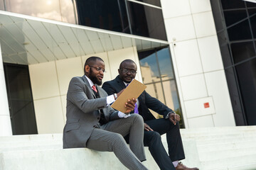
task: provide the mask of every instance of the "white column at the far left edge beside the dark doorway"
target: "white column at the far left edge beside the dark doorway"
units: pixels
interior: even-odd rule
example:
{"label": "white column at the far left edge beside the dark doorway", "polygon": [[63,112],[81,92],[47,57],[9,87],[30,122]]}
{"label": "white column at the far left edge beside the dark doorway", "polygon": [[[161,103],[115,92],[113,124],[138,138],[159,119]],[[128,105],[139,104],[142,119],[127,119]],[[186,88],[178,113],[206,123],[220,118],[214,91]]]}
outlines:
{"label": "white column at the far left edge beside the dark doorway", "polygon": [[0,136],[12,135],[11,119],[9,113],[9,104],[6,92],[6,83],[4,79],[4,66],[1,56],[0,44]]}

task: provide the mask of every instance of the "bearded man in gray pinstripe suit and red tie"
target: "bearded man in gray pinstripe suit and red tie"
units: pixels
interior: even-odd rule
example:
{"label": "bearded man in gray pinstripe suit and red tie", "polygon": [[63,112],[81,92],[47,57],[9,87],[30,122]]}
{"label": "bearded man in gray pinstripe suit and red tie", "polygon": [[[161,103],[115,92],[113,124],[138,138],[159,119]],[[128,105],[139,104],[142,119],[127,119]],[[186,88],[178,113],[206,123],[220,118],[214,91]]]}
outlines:
{"label": "bearded man in gray pinstripe suit and red tie", "polygon": [[[73,77],[68,87],[63,148],[87,147],[114,152],[128,169],[146,169],[141,163],[146,160],[142,116],[127,115],[110,107],[122,91],[107,96],[100,87],[105,72],[105,64],[100,57],[88,58],[84,71],[85,75]],[[134,110],[134,103],[134,98],[125,103],[126,113]],[[123,138],[128,134],[130,148]]]}

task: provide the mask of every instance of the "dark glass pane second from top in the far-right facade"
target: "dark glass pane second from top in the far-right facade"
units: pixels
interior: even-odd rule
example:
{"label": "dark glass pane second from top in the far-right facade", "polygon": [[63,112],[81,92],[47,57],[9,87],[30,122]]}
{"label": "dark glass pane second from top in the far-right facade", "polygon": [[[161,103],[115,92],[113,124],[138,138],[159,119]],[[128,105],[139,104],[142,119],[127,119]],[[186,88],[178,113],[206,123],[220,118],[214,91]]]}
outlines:
{"label": "dark glass pane second from top in the far-right facade", "polygon": [[233,23],[237,23],[247,17],[245,9],[235,11],[224,11],[226,26],[230,26]]}

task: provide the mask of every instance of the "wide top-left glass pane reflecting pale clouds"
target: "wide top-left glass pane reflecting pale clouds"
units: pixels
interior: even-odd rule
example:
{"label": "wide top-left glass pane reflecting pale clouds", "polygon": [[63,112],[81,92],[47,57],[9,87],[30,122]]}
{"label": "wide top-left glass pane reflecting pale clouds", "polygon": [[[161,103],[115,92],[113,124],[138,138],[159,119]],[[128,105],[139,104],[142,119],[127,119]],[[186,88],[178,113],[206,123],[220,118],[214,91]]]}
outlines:
{"label": "wide top-left glass pane reflecting pale clouds", "polygon": [[62,21],[59,0],[6,0],[6,11]]}

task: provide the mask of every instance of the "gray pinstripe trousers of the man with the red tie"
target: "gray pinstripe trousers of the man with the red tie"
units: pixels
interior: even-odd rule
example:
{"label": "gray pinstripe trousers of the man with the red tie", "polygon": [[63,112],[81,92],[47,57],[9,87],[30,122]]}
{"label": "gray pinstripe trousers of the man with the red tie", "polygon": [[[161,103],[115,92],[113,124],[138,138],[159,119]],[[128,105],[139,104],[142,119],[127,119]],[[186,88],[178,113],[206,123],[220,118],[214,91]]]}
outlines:
{"label": "gray pinstripe trousers of the man with the red tie", "polygon": [[[129,134],[129,147],[124,136]],[[87,140],[87,148],[97,151],[114,152],[128,169],[143,170],[146,167],[144,145],[144,121],[142,116],[132,114],[128,118],[110,121],[95,128]]]}

